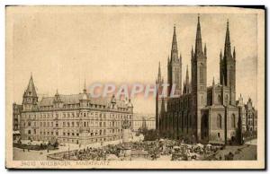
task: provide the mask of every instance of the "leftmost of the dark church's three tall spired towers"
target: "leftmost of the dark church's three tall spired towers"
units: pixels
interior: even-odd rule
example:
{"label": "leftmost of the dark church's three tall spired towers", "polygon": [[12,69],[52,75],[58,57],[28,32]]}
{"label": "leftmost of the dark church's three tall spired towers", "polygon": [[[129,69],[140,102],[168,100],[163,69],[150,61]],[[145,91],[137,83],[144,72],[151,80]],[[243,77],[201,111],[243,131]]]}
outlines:
{"label": "leftmost of the dark church's three tall spired towers", "polygon": [[174,27],[171,56],[170,56],[170,58],[168,57],[168,63],[167,63],[167,81],[169,84],[167,95],[170,95],[173,85],[175,85],[175,95],[181,95],[181,92],[182,92],[182,57],[178,56],[175,27]]}

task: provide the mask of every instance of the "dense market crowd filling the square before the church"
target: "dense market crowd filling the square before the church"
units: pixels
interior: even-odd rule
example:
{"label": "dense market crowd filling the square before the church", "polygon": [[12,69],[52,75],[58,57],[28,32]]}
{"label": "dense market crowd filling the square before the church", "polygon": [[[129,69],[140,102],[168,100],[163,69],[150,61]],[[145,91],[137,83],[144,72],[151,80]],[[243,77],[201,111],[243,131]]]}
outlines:
{"label": "dense market crowd filling the square before the church", "polygon": [[[124,144],[109,144],[100,148],[87,147],[82,150],[64,153],[65,160],[121,161],[126,156]],[[159,139],[156,141],[130,142],[130,157],[136,152],[144,152],[147,160],[155,161],[161,156],[171,161],[204,160],[215,154],[222,146],[211,144],[184,144],[179,140]]]}

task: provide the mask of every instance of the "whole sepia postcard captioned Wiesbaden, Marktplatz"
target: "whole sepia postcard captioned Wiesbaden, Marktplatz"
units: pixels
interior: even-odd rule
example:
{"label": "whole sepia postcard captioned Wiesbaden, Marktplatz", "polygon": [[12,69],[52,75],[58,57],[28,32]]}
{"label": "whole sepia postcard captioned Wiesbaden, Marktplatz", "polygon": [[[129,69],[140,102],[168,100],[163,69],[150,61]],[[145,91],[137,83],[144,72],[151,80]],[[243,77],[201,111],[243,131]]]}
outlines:
{"label": "whole sepia postcard captioned Wiesbaden, Marktplatz", "polygon": [[8,169],[266,168],[265,9],[5,6]]}

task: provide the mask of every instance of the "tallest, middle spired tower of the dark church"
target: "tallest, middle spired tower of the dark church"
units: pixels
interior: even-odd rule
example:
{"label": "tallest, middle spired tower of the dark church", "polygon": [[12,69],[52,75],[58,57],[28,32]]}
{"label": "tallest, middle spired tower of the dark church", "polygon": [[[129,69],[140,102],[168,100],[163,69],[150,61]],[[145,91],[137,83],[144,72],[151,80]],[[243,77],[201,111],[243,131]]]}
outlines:
{"label": "tallest, middle spired tower of the dark church", "polygon": [[206,45],[204,46],[204,52],[202,51],[202,34],[200,16],[198,16],[197,31],[195,39],[195,50],[192,48],[192,116],[195,123],[193,128],[196,130],[195,135],[197,139],[201,138],[201,109],[207,105],[207,57],[206,57]]}

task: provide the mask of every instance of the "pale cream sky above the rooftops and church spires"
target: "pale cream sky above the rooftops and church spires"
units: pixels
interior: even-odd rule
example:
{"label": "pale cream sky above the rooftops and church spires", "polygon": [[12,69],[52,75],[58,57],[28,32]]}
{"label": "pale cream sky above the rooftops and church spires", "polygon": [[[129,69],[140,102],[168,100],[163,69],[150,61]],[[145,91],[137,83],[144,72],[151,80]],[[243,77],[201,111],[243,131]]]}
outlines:
{"label": "pale cream sky above the rooftops and church spires", "polygon": [[[190,71],[197,13],[61,12],[14,15],[14,102],[22,103],[30,79],[40,96],[82,92],[84,82],[154,84],[158,61],[166,80],[174,25],[178,52]],[[202,13],[202,43],[207,46],[207,84],[219,82],[220,50],[226,22],[237,55],[237,99],[250,97],[257,107],[257,15]],[[41,97],[40,97],[41,98]],[[155,99],[131,99],[134,111],[155,113]]]}

